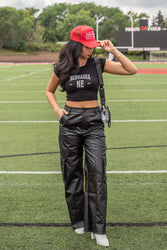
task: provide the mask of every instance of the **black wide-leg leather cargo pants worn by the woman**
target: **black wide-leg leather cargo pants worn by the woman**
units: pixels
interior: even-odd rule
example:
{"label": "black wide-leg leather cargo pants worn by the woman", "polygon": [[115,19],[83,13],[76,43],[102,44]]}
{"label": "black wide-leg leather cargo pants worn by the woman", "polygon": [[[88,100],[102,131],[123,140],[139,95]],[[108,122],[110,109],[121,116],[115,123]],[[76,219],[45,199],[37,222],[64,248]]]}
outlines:
{"label": "black wide-leg leather cargo pants worn by the woman", "polygon": [[100,108],[65,109],[69,115],[60,120],[59,145],[71,224],[84,227],[85,232],[105,234],[106,143]]}

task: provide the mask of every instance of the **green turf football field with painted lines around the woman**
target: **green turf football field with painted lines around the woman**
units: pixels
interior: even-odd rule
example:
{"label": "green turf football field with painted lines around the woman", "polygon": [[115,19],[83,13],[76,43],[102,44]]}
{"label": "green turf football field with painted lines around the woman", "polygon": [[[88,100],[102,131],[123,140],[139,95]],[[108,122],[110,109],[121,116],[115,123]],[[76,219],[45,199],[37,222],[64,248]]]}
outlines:
{"label": "green turf football field with painted lines around the woman", "polygon": [[[76,235],[69,226],[58,118],[45,97],[51,74],[47,64],[0,65],[0,249],[101,249],[90,233]],[[104,80],[112,113],[105,128],[109,249],[165,250],[167,75]],[[58,90],[57,99],[63,107],[65,94]]]}

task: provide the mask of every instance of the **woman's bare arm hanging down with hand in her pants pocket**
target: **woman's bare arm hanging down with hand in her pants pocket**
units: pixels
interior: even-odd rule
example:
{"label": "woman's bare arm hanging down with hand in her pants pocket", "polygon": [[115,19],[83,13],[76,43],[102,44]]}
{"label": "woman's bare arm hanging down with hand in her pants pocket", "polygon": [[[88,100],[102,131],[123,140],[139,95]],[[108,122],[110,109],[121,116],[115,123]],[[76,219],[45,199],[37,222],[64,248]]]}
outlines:
{"label": "woman's bare arm hanging down with hand in her pants pocket", "polygon": [[59,85],[59,78],[55,75],[55,73],[52,74],[52,77],[48,83],[48,86],[46,88],[46,97],[48,99],[48,102],[52,106],[53,110],[56,112],[56,114],[59,117],[59,120],[63,116],[63,114],[68,114],[68,112],[65,109],[61,109],[57,103],[55,91]]}

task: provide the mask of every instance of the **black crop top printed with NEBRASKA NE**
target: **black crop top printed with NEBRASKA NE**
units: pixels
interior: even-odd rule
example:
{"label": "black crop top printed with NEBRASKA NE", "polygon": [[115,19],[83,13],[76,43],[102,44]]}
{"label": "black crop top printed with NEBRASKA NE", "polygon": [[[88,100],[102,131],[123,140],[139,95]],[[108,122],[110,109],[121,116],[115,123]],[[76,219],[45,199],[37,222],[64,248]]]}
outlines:
{"label": "black crop top printed with NEBRASKA NE", "polygon": [[[106,59],[101,57],[99,59],[103,72]],[[60,77],[60,71],[57,67],[54,68],[54,72],[57,77]],[[67,101],[97,100],[98,87],[96,64],[93,58],[89,58],[87,63],[80,67],[80,71],[70,75],[70,78],[65,82]]]}

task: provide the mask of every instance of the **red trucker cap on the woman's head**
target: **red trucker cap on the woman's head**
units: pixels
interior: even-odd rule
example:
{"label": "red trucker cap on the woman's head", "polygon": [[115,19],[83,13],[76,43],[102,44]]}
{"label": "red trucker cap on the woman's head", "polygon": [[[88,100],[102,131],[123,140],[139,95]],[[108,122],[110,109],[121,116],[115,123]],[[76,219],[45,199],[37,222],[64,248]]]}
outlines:
{"label": "red trucker cap on the woman's head", "polygon": [[70,33],[71,40],[82,43],[88,48],[100,46],[100,42],[95,40],[95,33],[92,27],[86,25],[76,26]]}

